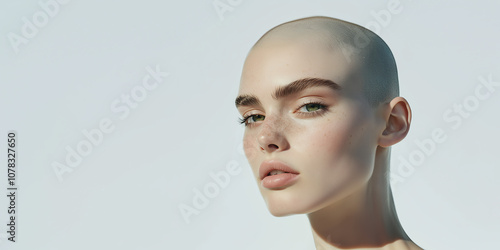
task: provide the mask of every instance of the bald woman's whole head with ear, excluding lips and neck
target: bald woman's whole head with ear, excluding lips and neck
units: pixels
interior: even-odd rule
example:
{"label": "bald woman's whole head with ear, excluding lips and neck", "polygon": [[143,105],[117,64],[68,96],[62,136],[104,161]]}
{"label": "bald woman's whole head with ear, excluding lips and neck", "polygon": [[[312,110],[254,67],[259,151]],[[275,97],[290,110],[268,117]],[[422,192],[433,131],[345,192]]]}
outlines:
{"label": "bald woman's whole head with ear, excluding lips and neck", "polygon": [[[245,154],[275,216],[311,213],[366,186],[411,120],[385,42],[329,17],[264,34],[247,55],[238,95]],[[266,188],[263,162],[285,164],[298,178]]]}

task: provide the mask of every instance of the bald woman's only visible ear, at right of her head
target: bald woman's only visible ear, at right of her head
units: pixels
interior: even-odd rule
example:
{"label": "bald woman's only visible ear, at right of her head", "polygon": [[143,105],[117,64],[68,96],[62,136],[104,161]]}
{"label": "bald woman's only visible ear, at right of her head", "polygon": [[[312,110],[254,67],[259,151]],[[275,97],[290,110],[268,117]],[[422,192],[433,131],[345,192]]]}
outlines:
{"label": "bald woman's only visible ear, at right of her head", "polygon": [[379,136],[378,145],[390,147],[406,137],[410,130],[410,104],[403,97],[396,97],[389,103],[390,112],[386,115],[386,126]]}

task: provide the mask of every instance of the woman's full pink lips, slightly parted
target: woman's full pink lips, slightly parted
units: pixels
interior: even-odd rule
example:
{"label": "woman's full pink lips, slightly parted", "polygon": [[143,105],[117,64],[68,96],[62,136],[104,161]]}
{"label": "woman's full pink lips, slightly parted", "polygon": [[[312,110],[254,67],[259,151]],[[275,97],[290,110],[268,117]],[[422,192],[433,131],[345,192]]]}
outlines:
{"label": "woman's full pink lips, slightly parted", "polygon": [[[281,170],[286,173],[267,176],[273,170]],[[279,160],[267,160],[260,164],[259,177],[263,187],[272,189],[295,182],[299,177],[299,172]]]}

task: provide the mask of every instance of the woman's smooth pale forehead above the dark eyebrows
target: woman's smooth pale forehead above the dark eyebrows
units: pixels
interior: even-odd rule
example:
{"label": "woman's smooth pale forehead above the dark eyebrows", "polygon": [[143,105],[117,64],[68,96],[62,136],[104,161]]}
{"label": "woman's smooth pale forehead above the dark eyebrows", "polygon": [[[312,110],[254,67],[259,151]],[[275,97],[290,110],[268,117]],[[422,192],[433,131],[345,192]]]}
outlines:
{"label": "woman's smooth pale forehead above the dark eyebrows", "polygon": [[359,63],[349,60],[348,52],[348,48],[319,39],[266,41],[248,54],[239,93],[258,94],[307,77],[329,79],[344,89],[359,89]]}

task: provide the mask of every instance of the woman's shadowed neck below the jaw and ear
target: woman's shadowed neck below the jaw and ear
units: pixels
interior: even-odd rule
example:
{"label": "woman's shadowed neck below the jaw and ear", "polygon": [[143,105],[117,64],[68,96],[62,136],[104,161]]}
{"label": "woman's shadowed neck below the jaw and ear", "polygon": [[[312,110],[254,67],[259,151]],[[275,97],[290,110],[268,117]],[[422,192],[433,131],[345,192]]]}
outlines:
{"label": "woman's shadowed neck below the jaw and ear", "polygon": [[414,245],[394,207],[388,178],[390,149],[379,147],[376,154],[372,177],[365,185],[308,214],[317,249],[384,249],[395,245],[405,249],[405,245]]}

